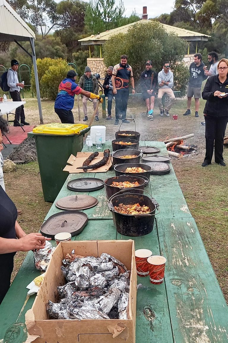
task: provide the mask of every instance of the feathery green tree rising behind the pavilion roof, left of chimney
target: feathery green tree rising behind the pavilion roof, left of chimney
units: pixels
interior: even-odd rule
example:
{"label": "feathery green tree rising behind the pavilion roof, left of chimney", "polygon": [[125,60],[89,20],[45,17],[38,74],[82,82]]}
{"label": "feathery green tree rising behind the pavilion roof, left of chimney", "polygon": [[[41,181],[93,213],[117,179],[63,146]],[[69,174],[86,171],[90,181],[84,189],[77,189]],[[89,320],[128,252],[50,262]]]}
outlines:
{"label": "feathery green tree rising behind the pavilion roof, left of chimney", "polygon": [[115,0],[90,0],[85,12],[85,24],[93,34],[118,27],[125,8],[122,0],[115,5]]}

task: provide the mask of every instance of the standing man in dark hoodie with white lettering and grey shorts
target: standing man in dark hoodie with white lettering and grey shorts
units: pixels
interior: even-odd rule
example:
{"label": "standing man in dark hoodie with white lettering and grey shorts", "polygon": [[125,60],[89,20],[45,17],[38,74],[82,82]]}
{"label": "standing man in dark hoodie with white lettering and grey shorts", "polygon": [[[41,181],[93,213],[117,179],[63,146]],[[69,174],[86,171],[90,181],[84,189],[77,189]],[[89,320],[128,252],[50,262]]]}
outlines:
{"label": "standing man in dark hoodie with white lettering and grey shorts", "polygon": [[207,75],[204,74],[205,64],[202,62],[201,54],[194,55],[194,62],[190,64],[189,72],[190,78],[188,82],[187,90],[187,111],[184,113],[184,116],[191,114],[191,98],[195,98],[195,117],[199,117],[198,111],[200,108],[200,98],[201,98],[201,86],[202,82],[206,80]]}

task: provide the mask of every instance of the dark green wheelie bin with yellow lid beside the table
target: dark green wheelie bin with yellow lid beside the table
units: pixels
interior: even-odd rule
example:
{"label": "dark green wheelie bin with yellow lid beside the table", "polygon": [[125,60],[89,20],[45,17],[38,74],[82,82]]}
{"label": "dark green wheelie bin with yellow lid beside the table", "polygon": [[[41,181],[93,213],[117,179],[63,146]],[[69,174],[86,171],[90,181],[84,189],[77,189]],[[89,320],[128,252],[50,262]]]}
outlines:
{"label": "dark green wheelie bin with yellow lid beside the table", "polygon": [[51,123],[28,132],[36,141],[45,201],[54,202],[68,176],[63,168],[71,154],[76,156],[82,150],[84,134],[89,130],[88,125]]}

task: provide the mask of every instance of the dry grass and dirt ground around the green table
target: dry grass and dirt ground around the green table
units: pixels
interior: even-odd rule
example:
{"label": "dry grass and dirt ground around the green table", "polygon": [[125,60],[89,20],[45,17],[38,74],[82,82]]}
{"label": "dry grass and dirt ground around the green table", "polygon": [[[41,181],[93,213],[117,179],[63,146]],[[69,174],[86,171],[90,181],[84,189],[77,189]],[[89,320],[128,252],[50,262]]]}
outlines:
{"label": "dry grass and dirt ground around the green table", "polygon": [[[93,109],[89,103],[88,115],[91,118]],[[135,114],[136,130],[141,133],[141,140],[163,141],[166,138],[179,137],[189,133],[195,136],[186,141],[196,147],[196,152],[185,155],[182,159],[172,159],[180,187],[184,193],[189,209],[195,218],[206,251],[209,255],[214,271],[228,302],[228,188],[227,167],[220,167],[213,163],[211,166],[202,168],[201,163],[205,154],[205,128],[200,125],[203,120],[204,100],[200,101],[199,118],[195,118],[195,109],[192,104],[191,116],[184,117],[186,111],[186,99],[176,99],[170,110],[170,117],[160,117],[159,109],[155,107],[154,120],[150,121],[141,113],[146,110],[140,99],[129,99],[127,116]],[[59,122],[54,113],[53,102],[43,101],[44,123]],[[100,105],[101,112],[101,105]],[[114,111],[112,110],[114,114]],[[26,120],[39,125],[39,114],[36,99],[26,99]],[[77,103],[73,110],[75,122],[78,121]],[[173,120],[172,115],[178,114],[178,120]],[[81,122],[82,122],[81,103]],[[119,127],[114,126],[113,120],[106,121],[100,116],[100,121],[94,125],[106,125],[106,139],[115,137]],[[133,130],[134,124],[123,124],[121,129]],[[228,160],[228,150],[224,152],[225,161]],[[51,204],[44,202],[37,162],[18,165],[17,170],[5,174],[5,186],[9,196],[22,208],[23,214],[18,216],[18,221],[26,232],[37,231],[48,212]],[[17,253],[15,258],[14,274],[21,265],[25,253]]]}

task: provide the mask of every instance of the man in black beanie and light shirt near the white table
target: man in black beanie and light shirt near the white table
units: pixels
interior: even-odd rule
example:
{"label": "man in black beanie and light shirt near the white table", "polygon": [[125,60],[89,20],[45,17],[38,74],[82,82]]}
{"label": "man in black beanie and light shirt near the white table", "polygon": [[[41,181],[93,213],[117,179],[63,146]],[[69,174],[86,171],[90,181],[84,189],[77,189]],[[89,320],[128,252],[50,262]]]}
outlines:
{"label": "man in black beanie and light shirt near the white table", "polygon": [[[19,63],[17,60],[11,61],[11,68],[7,72],[7,84],[10,87],[10,96],[13,101],[22,101],[20,96],[20,87],[24,88],[24,83],[18,81],[17,70]],[[21,126],[29,125],[25,121],[24,105],[17,107],[15,111],[15,118],[13,126],[20,126],[19,121],[21,118]]]}

